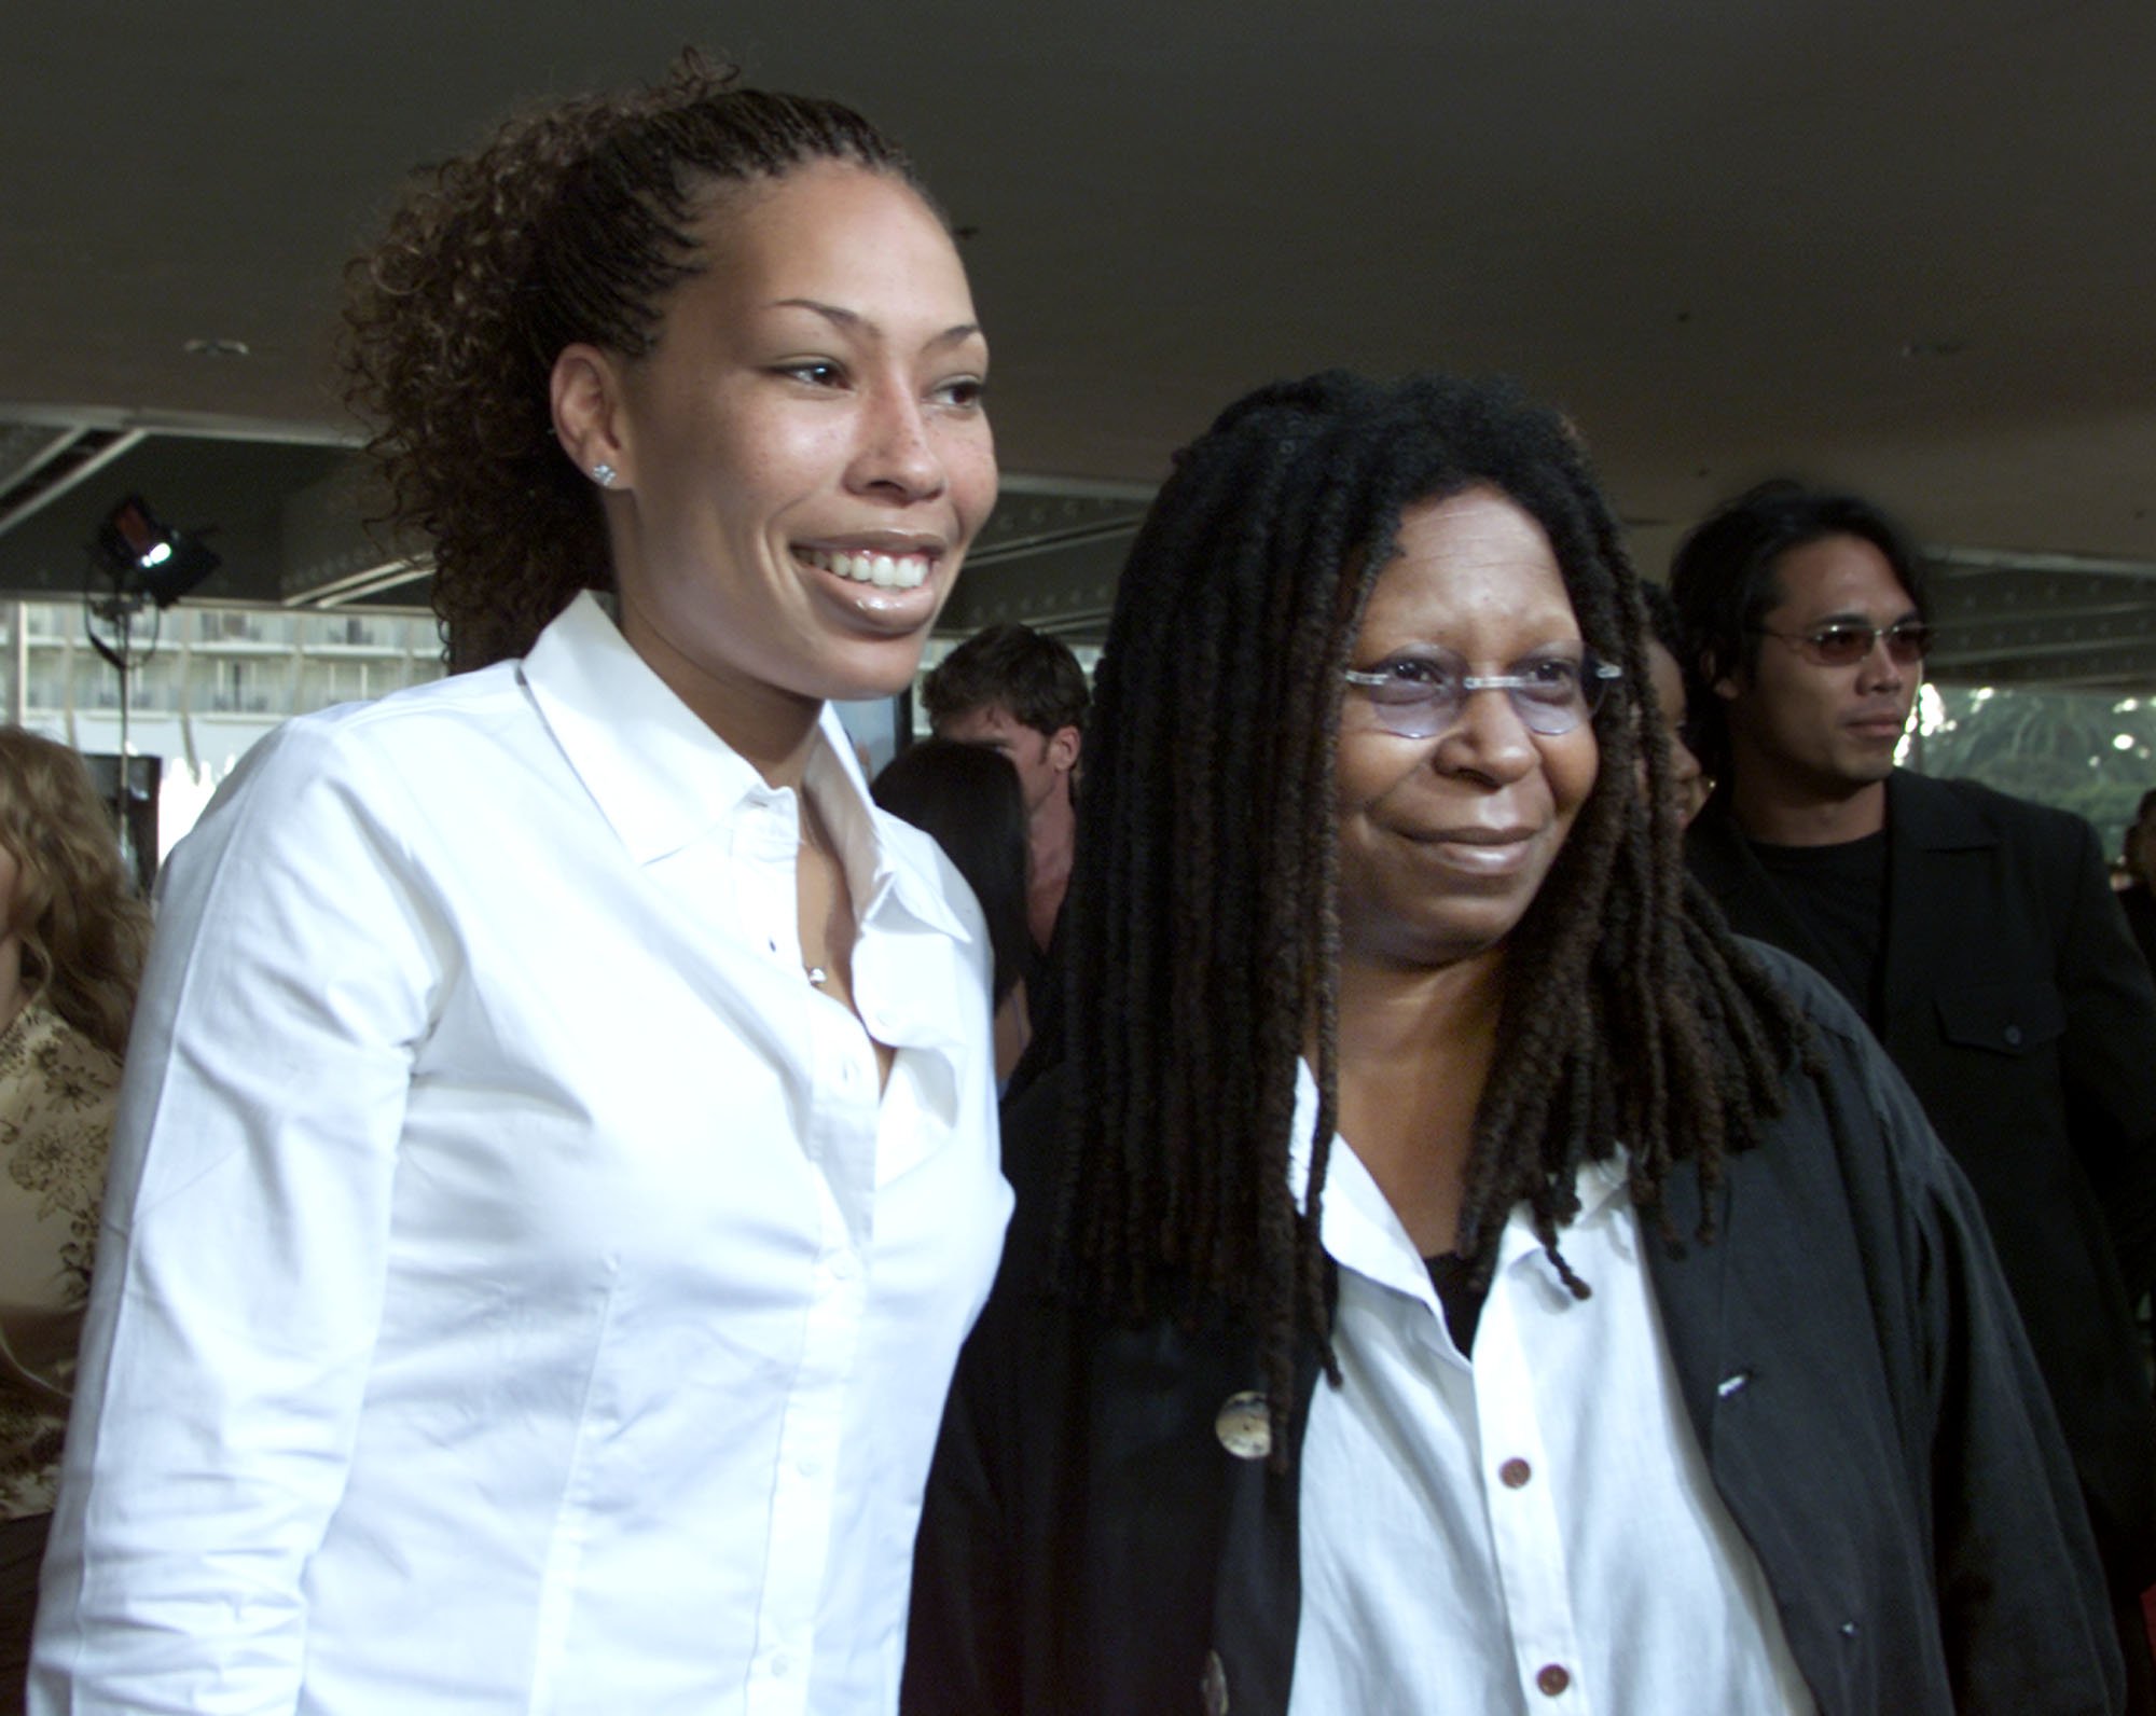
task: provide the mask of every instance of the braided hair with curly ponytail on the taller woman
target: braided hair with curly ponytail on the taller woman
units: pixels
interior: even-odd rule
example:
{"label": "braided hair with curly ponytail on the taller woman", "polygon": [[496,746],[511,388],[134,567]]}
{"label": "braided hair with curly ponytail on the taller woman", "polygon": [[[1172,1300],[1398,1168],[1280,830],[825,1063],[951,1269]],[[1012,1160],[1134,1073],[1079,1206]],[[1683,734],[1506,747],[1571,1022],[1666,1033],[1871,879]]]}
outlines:
{"label": "braided hair with curly ponytail on the taller woman", "polygon": [[849,162],[936,207],[852,108],[735,78],[688,52],[655,88],[515,119],[436,168],[347,269],[345,392],[377,425],[386,522],[433,554],[453,668],[526,653],[578,591],[610,586],[548,382],[578,341],[651,349],[668,289],[703,265],[714,188]]}

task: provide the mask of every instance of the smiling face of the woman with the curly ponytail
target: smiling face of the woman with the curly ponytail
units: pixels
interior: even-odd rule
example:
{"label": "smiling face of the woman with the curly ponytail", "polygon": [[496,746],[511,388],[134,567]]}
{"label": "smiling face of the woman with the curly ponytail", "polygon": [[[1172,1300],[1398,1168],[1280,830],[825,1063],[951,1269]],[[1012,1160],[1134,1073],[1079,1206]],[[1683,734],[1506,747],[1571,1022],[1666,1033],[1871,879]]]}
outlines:
{"label": "smiling face of the woman with the curly ponytail", "polygon": [[906,183],[839,162],[722,188],[696,231],[653,349],[593,369],[606,438],[578,448],[617,470],[621,632],[707,720],[888,696],[996,500],[957,250]]}

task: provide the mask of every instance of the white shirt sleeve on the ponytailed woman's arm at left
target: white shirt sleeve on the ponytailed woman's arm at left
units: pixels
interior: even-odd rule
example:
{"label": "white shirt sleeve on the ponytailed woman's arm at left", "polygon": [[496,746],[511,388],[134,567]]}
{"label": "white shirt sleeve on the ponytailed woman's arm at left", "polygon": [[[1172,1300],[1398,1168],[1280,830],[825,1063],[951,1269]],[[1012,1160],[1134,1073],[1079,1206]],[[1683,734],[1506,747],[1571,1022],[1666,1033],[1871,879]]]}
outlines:
{"label": "white shirt sleeve on the ponytailed woman's arm at left", "polygon": [[30,1710],[291,1712],[448,938],[362,720],[172,854],[114,1123]]}

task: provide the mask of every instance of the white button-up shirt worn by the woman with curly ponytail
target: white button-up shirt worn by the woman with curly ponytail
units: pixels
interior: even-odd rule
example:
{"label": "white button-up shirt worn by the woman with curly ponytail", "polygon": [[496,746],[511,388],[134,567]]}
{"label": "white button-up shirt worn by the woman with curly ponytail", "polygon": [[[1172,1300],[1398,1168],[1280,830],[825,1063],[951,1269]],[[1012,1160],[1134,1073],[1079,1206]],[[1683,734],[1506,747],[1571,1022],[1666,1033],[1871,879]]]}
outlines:
{"label": "white button-up shirt worn by the woman with curly ponytail", "polygon": [[172,856],[45,1567],[37,1712],[888,1712],[1009,1216],[987,940],[591,601],[265,739]]}

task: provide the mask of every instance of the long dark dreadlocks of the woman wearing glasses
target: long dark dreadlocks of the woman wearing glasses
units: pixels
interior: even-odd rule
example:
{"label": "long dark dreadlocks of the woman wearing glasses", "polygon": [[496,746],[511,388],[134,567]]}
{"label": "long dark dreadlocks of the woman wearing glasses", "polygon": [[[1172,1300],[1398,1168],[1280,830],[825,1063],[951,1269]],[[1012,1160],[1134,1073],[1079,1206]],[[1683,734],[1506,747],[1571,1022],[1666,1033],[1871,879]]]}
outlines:
{"label": "long dark dreadlocks of the woman wearing glasses", "polygon": [[[1643,1209],[1684,1158],[1712,1190],[1725,1153],[1779,1110],[1805,1046],[1792,1005],[1686,882],[1669,748],[1643,718],[1639,580],[1565,423],[1507,384],[1436,375],[1326,373],[1231,405],[1138,532],[1095,683],[1065,903],[1082,1095],[1059,1268],[1110,1315],[1173,1304],[1253,1326],[1276,1416],[1298,1337],[1332,1369],[1319,1209],[1339,1112],[1341,673],[1401,509],[1481,485],[1544,528],[1587,647],[1623,668],[1630,696],[1604,698],[1595,787],[1509,938],[1462,1255],[1488,1278],[1526,1203],[1585,1296],[1557,1244],[1578,1214],[1576,1168],[1621,1145]],[[1298,1212],[1289,1134],[1311,1039]]]}

